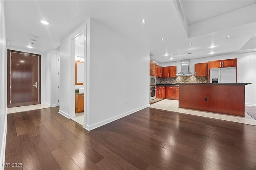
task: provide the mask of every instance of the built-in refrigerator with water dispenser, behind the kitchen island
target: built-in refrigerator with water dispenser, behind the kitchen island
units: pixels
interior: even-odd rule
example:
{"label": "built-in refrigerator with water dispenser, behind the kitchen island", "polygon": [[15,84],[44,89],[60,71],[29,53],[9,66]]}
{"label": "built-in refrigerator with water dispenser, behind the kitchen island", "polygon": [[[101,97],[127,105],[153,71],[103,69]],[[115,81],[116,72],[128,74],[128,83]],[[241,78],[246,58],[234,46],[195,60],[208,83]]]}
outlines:
{"label": "built-in refrigerator with water dispenser, behind the kitchen island", "polygon": [[210,68],[210,83],[236,83],[236,67]]}

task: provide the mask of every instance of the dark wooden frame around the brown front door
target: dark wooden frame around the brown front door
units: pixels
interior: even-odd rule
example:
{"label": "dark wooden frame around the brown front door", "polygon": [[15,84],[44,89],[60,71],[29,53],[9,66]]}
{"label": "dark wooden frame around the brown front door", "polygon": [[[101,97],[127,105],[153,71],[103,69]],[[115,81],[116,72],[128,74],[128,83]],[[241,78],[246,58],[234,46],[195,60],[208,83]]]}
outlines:
{"label": "dark wooden frame around the brown front door", "polygon": [[7,107],[10,107],[10,58],[11,53],[24,55],[33,55],[38,57],[38,104],[41,104],[41,55],[34,53],[26,53],[22,51],[7,50]]}

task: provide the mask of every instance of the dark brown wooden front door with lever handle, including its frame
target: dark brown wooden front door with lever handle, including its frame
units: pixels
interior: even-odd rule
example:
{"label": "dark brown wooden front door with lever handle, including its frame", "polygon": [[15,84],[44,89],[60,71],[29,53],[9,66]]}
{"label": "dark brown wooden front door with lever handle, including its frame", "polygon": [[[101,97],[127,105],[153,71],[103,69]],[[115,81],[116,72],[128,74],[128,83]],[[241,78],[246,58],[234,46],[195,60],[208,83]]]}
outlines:
{"label": "dark brown wooden front door with lever handle, including its frame", "polygon": [[10,107],[40,104],[40,55],[8,50],[9,55]]}

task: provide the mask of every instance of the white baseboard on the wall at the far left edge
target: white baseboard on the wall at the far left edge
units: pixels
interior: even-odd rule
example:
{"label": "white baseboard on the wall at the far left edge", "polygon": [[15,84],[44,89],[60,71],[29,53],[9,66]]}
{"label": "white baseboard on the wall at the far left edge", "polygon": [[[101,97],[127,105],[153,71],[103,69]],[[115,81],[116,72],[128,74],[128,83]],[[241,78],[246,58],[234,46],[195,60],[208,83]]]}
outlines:
{"label": "white baseboard on the wall at the far left edge", "polygon": [[4,118],[4,133],[2,136],[2,146],[1,146],[1,153],[0,153],[0,164],[1,166],[1,170],[4,170],[4,161],[5,161],[5,147],[6,147],[6,133],[7,133],[7,106],[5,109],[5,118]]}

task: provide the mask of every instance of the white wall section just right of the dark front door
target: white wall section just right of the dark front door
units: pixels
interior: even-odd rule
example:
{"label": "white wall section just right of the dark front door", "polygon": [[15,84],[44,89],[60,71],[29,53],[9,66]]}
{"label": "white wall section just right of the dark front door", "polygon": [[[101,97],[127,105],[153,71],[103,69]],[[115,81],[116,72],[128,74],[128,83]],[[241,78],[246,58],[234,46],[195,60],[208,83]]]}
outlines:
{"label": "white wall section just right of the dark front door", "polygon": [[[57,87],[57,53],[56,50],[50,50],[44,57],[44,101],[43,103],[47,106],[54,107],[58,106],[58,98],[56,96]],[[42,63],[43,64],[43,63]]]}

